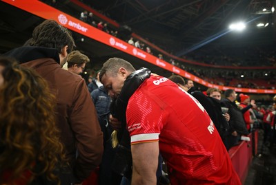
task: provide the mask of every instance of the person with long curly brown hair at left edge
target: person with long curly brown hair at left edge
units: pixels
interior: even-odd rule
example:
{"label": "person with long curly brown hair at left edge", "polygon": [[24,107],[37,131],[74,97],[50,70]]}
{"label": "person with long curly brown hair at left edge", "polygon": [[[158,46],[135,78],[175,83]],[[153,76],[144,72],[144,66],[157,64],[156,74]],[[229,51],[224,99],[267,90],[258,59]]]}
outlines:
{"label": "person with long curly brown hair at left edge", "polygon": [[0,184],[60,184],[55,103],[37,72],[0,58]]}

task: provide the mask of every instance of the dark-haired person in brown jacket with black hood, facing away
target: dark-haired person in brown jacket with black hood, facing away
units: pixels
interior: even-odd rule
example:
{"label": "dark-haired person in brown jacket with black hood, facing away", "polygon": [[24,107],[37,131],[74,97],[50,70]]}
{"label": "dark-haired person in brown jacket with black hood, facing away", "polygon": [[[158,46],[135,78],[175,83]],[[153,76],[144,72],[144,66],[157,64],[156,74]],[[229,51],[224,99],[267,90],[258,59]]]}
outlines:
{"label": "dark-haired person in brown jacket with black hood, facing away", "polygon": [[55,94],[57,126],[72,168],[71,175],[61,177],[61,184],[79,184],[101,162],[103,135],[85,81],[61,68],[75,46],[74,39],[62,25],[46,20],[34,28],[28,45],[6,55],[34,68]]}

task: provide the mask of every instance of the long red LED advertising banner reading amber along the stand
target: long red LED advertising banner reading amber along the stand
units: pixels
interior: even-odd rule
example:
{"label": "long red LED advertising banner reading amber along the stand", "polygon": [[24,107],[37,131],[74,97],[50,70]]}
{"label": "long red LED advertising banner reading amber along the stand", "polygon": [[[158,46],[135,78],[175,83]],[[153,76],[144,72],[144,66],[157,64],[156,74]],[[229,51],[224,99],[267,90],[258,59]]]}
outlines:
{"label": "long red LED advertising banner reading amber along the stand", "polygon": [[92,25],[84,23],[83,21],[80,21],[79,19],[76,19],[75,17],[71,17],[70,15],[68,15],[64,12],[61,12],[51,6],[48,6],[46,3],[43,3],[41,1],[38,1],[38,0],[28,0],[28,1],[26,1],[26,0],[2,0],[2,1],[9,3],[10,5],[15,6],[21,10],[25,10],[26,12],[30,12],[31,14],[34,14],[37,17],[41,17],[43,19],[54,19],[55,21],[57,21],[64,27],[66,27],[74,32],[78,32],[79,34],[83,34],[84,36],[94,39],[95,41],[99,41],[99,42],[104,43],[110,47],[114,47],[117,50],[120,50],[122,52],[130,54],[137,58],[140,58],[147,63],[157,65],[158,67],[166,69],[170,72],[179,74],[180,76],[183,76],[185,78],[193,80],[196,83],[199,83],[206,87],[216,87],[223,91],[225,91],[226,89],[235,89],[235,91],[237,91],[238,93],[276,94],[275,89],[235,88],[235,87],[225,87],[225,86],[221,86],[221,85],[214,85],[214,84],[208,83],[205,80],[203,80],[193,74],[190,74],[190,73],[184,71],[183,69],[180,69],[179,67],[171,65],[170,63],[163,61],[163,60],[157,58],[156,56],[152,56],[151,54],[148,54],[147,52],[144,52],[143,50],[140,50],[137,47],[134,47],[124,41],[121,41],[120,39],[117,39],[115,36],[111,36],[110,34],[107,34],[106,32],[103,32],[97,28],[94,28],[94,27],[92,27]]}

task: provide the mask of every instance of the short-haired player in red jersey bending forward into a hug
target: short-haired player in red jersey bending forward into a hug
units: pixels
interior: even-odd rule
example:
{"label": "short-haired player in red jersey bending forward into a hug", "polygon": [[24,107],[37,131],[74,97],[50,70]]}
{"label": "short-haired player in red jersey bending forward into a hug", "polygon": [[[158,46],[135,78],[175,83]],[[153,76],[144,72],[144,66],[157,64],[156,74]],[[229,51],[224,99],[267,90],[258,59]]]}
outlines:
{"label": "short-haired player in red jersey bending forward into a hug", "polygon": [[[101,69],[101,83],[117,98],[132,72],[135,68],[127,61],[110,58]],[[131,139],[132,184],[157,183],[159,152],[172,185],[241,184],[204,107],[167,78],[150,75],[130,96],[126,128]]]}

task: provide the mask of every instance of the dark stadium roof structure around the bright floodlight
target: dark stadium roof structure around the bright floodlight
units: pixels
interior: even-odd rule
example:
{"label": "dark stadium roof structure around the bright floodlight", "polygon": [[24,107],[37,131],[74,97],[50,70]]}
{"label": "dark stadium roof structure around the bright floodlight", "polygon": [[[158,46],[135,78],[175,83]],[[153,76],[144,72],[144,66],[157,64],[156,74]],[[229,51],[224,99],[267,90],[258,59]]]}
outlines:
{"label": "dark stadium roof structure around the bright floodlight", "polygon": [[[231,55],[242,48],[275,48],[275,1],[261,0],[83,0],[120,25],[176,56]],[[244,32],[228,26],[244,21]],[[264,23],[262,27],[257,24]]]}

